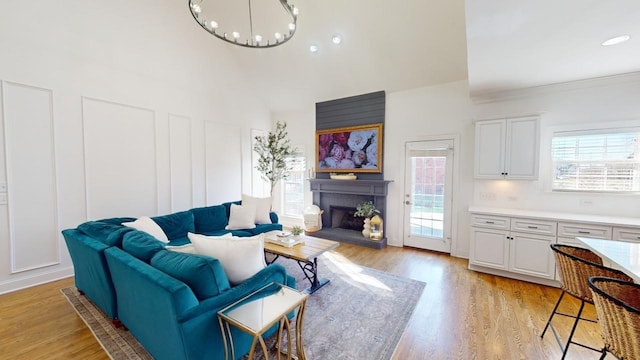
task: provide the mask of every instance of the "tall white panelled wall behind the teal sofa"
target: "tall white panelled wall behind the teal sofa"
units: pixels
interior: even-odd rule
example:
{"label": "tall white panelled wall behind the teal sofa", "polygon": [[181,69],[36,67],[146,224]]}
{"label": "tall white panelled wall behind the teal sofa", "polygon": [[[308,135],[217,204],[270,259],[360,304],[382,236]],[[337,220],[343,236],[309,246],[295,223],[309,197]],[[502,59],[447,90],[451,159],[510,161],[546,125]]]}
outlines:
{"label": "tall white panelled wall behind the teal sofa", "polygon": [[0,293],[72,274],[62,229],[250,191],[269,112],[186,2],[3,1],[0,48]]}

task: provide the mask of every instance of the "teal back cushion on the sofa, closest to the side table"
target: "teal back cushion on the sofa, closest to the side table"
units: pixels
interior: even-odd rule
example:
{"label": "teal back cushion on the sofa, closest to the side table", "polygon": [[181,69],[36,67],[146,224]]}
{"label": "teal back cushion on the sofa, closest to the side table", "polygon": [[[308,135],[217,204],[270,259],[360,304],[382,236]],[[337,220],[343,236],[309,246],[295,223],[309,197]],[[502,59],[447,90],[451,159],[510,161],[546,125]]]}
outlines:
{"label": "teal back cushion on the sofa, closest to the side table", "polygon": [[151,266],[187,284],[200,301],[231,288],[220,261],[209,256],[163,250]]}

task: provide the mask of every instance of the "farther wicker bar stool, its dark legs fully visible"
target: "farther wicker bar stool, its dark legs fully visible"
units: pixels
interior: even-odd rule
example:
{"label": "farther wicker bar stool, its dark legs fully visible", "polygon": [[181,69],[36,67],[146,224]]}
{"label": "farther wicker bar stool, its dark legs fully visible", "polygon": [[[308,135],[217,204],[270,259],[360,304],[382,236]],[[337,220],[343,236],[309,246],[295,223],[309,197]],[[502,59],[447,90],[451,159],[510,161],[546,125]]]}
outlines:
{"label": "farther wicker bar stool, its dark legs fully visible", "polygon": [[[600,256],[596,255],[591,250],[561,244],[551,244],[551,250],[553,250],[553,255],[556,259],[556,269],[560,275],[562,294],[560,294],[560,298],[558,299],[556,306],[553,308],[553,312],[551,313],[540,337],[544,337],[547,329],[551,328],[551,331],[562,350],[562,359],[567,355],[567,350],[569,350],[569,346],[571,344],[600,352],[601,349],[596,349],[573,341],[573,334],[576,332],[576,328],[578,327],[580,320],[597,322],[597,320],[582,317],[582,311],[584,310],[585,303],[593,304],[593,298],[588,284],[589,278],[592,276],[606,276],[624,281],[633,280],[622,271],[603,266]],[[569,294],[580,300],[580,309],[576,315],[558,311],[558,307],[560,306],[565,294]],[[551,323],[551,320],[555,315],[562,315],[575,319],[569,338],[564,345],[560,340],[560,336],[558,336],[558,332]]]}

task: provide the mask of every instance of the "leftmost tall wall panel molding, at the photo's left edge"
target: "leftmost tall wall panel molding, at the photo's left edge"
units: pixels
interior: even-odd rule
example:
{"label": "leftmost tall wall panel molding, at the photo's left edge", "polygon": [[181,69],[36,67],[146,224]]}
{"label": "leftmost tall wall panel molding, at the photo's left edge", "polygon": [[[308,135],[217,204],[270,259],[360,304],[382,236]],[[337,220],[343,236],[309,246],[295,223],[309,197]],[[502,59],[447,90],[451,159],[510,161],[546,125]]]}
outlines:
{"label": "leftmost tall wall panel molding, at the photo's left edge", "polygon": [[11,273],[58,265],[53,90],[2,81],[2,104]]}

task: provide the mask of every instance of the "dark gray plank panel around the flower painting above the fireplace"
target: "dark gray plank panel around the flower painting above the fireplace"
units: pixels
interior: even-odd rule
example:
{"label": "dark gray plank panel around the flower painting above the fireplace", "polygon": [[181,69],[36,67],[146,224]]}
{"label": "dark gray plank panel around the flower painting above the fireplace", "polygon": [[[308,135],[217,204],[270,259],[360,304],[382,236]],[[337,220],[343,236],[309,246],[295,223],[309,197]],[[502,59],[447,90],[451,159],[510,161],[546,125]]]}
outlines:
{"label": "dark gray plank panel around the flower painting above the fireplace", "polygon": [[[382,123],[382,146],[384,154],[384,116],[386,94],[377,91],[364,95],[316,103],[316,130],[327,130],[349,126]],[[318,149],[315,149],[317,151]],[[382,173],[357,173],[358,179],[383,180]],[[316,174],[318,179],[328,179],[328,173]]]}

